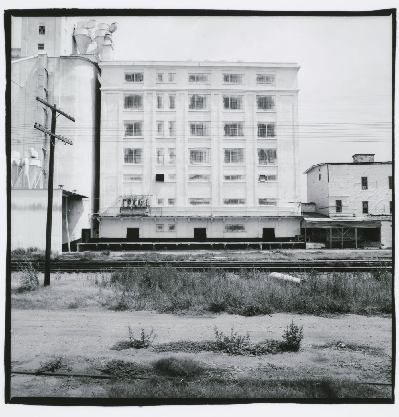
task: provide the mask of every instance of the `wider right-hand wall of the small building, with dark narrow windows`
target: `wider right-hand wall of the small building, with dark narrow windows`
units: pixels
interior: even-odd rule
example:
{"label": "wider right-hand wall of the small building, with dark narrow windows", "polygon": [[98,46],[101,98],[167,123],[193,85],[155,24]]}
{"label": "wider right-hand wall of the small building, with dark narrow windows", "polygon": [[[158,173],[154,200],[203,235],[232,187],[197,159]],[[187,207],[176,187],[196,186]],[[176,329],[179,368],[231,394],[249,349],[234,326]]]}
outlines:
{"label": "wider right-hand wall of the small building, with dark narrow windows", "polygon": [[[331,216],[364,216],[362,201],[369,202],[369,214],[389,214],[392,190],[388,177],[392,164],[329,165],[328,205]],[[368,187],[361,188],[361,177]],[[342,200],[342,213],[335,213],[335,201]]]}

